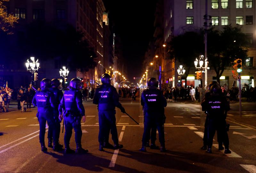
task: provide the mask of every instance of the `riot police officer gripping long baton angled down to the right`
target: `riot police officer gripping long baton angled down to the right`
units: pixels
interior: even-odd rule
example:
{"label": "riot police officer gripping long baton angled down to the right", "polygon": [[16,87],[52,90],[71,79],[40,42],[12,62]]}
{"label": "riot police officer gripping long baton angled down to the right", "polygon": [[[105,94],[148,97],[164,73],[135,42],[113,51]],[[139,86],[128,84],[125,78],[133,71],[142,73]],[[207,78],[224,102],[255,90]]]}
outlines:
{"label": "riot police officer gripping long baton angled down to the right", "polygon": [[101,82],[102,85],[96,88],[95,95],[93,97],[93,104],[98,105],[99,111],[99,150],[104,150],[104,139],[109,135],[109,127],[111,129],[112,140],[114,141],[113,148],[123,148],[123,145],[118,144],[115,107],[121,109],[121,112],[123,113],[125,113],[125,109],[119,102],[119,96],[116,88],[111,85],[111,77],[109,74],[103,74],[101,76]]}

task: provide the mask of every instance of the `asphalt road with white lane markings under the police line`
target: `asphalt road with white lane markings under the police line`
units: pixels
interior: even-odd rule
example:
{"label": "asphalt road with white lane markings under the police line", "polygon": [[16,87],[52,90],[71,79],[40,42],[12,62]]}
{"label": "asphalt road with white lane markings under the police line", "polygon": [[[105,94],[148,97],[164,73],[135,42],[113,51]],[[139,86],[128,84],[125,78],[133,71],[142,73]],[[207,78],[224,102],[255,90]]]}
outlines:
{"label": "asphalt road with white lane markings under the police line", "polygon": [[[0,172],[256,172],[256,129],[230,122],[228,135],[232,154],[224,154],[215,147],[213,153],[208,154],[200,149],[203,143],[200,125],[204,124],[204,115],[199,104],[168,102],[165,108],[168,151],[160,153],[147,148],[144,153],[138,151],[143,134],[139,101],[121,99],[121,103],[140,125],[118,109],[117,131],[124,148],[100,152],[97,106],[91,100],[84,102],[87,118],[82,124],[82,147],[89,153],[82,155],[64,155],[63,151],[55,152],[52,148],[41,152],[36,108],[24,113],[18,110],[0,113]],[[255,113],[255,107],[245,107],[249,113]],[[237,114],[237,105],[231,108],[228,116]],[[61,144],[63,137],[61,133]],[[110,142],[113,143],[111,137]],[[159,145],[158,140],[156,144]],[[217,144],[216,137],[214,144]],[[74,134],[70,147],[76,147]]]}

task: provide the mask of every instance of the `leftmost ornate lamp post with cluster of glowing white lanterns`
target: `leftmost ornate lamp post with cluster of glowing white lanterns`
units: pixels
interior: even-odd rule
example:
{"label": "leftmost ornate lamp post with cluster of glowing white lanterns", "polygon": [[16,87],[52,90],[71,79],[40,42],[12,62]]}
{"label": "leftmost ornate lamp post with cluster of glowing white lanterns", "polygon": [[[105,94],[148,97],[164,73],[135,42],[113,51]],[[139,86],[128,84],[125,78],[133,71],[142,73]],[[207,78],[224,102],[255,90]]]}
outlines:
{"label": "leftmost ornate lamp post with cluster of glowing white lanterns", "polygon": [[39,62],[38,62],[38,59],[35,61],[35,57],[30,57],[30,60],[32,62],[30,62],[29,59],[27,59],[27,62],[25,63],[25,65],[27,67],[27,71],[31,73],[31,87],[32,87],[36,85],[35,81],[37,80],[37,71],[39,69]]}

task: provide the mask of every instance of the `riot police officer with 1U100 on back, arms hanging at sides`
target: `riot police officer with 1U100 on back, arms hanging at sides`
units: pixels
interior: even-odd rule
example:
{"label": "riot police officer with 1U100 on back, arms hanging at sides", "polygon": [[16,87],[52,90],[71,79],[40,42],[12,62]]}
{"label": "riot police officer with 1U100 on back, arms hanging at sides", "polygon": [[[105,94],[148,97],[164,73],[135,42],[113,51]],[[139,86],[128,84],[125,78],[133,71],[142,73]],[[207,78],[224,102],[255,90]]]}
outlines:
{"label": "riot police officer with 1U100 on back, arms hanging at sides", "polygon": [[[81,93],[82,82],[74,78],[70,81],[69,90],[65,91],[59,105],[59,119],[64,118],[65,124],[65,153],[74,153],[74,150],[70,149],[69,141],[72,136],[72,129],[75,130],[76,141],[76,153],[87,153],[88,150],[84,150],[81,145],[82,129],[81,119],[85,122],[85,110],[83,106],[83,96]],[[64,111],[63,111],[64,110]],[[62,115],[63,114],[63,115]]]}

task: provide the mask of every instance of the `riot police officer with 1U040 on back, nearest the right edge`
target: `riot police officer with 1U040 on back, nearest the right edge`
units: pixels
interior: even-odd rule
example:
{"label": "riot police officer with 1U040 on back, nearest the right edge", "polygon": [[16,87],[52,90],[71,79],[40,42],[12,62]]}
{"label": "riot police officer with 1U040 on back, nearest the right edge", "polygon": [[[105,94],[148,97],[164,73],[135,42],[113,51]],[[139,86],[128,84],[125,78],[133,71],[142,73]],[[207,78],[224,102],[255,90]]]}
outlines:
{"label": "riot police officer with 1U040 on back, nearest the right edge", "polygon": [[221,141],[225,146],[225,154],[231,153],[229,150],[228,133],[226,130],[225,111],[230,110],[229,103],[225,96],[221,95],[220,86],[214,84],[210,88],[210,95],[202,102],[202,110],[208,113],[208,140],[207,153],[212,153],[212,142],[215,131],[219,131]]}

